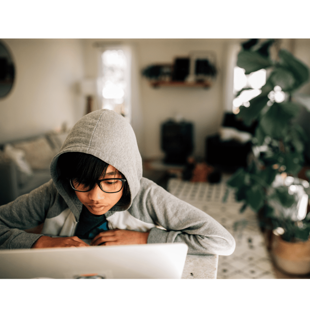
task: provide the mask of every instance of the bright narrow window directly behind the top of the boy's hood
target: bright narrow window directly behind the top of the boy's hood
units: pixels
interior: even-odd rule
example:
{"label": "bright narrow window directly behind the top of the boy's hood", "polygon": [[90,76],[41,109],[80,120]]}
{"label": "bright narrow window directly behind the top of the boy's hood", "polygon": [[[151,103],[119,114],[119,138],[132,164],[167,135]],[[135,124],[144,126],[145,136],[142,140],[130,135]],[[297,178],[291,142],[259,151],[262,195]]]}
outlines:
{"label": "bright narrow window directly behind the top of the boy's hood", "polygon": [[98,91],[101,107],[131,121],[131,51],[108,47],[100,52]]}

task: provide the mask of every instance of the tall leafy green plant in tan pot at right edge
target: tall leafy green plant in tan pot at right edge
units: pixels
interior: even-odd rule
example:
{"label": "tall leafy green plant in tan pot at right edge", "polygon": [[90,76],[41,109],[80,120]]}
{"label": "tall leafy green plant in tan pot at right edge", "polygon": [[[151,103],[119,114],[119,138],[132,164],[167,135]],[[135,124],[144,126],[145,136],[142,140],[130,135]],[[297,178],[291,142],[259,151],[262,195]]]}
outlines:
{"label": "tall leafy green plant in tan pot at right edge", "polygon": [[[307,106],[307,100],[299,100],[296,91],[308,81],[309,69],[283,49],[277,52],[276,60],[272,59],[269,48],[274,42],[271,39],[260,44],[258,39],[251,39],[242,44],[238,54],[237,66],[245,69],[245,74],[266,69],[267,78],[260,94],[239,107],[237,117],[245,125],[258,122],[252,139],[254,156],[246,168],[236,171],[228,185],[236,188],[237,201],[244,202],[240,211],[252,208],[258,213],[260,226],[273,231],[272,256],[278,266],[303,274],[310,272],[309,183],[299,179],[298,173],[309,139],[295,118],[301,104]],[[237,98],[248,90],[250,87],[241,89]],[[290,245],[294,249],[287,253],[294,253],[293,258],[283,254]],[[298,259],[303,261],[302,266]],[[292,262],[296,268],[286,268]]]}

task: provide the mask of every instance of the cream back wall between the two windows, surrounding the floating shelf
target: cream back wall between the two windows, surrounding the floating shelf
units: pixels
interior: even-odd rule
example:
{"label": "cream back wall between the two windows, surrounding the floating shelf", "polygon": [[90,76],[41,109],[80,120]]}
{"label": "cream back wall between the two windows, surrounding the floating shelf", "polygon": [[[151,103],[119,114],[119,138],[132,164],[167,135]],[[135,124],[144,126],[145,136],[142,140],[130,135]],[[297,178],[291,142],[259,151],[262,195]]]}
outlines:
{"label": "cream back wall between the two windows, surrounding the floating shelf", "polygon": [[176,56],[191,51],[214,51],[218,76],[210,89],[162,87],[153,89],[141,80],[141,100],[144,115],[144,156],[162,157],[160,124],[176,114],[194,124],[194,154],[203,156],[205,137],[214,134],[223,114],[224,42],[222,40],[147,40],[139,44],[140,69],[156,63],[173,63]]}

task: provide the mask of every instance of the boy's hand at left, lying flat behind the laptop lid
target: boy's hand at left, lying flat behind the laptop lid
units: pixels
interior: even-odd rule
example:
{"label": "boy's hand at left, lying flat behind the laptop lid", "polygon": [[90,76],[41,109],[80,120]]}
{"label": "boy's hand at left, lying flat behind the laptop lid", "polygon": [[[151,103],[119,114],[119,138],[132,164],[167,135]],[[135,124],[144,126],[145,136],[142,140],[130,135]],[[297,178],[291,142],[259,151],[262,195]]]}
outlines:
{"label": "boy's hand at left, lying flat behind the laptop lid", "polygon": [[89,246],[80,238],[73,237],[40,237],[31,247],[32,249],[38,248],[64,248],[64,247],[77,247],[77,246]]}

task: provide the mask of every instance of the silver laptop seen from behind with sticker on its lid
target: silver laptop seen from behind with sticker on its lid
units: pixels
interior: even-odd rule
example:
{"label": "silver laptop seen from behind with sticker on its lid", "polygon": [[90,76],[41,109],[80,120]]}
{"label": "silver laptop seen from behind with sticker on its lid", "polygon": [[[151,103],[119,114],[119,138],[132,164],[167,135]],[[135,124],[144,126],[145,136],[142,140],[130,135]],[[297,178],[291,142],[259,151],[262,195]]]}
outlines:
{"label": "silver laptop seen from behind with sticker on its lid", "polygon": [[187,250],[184,243],[0,250],[0,278],[180,279]]}

